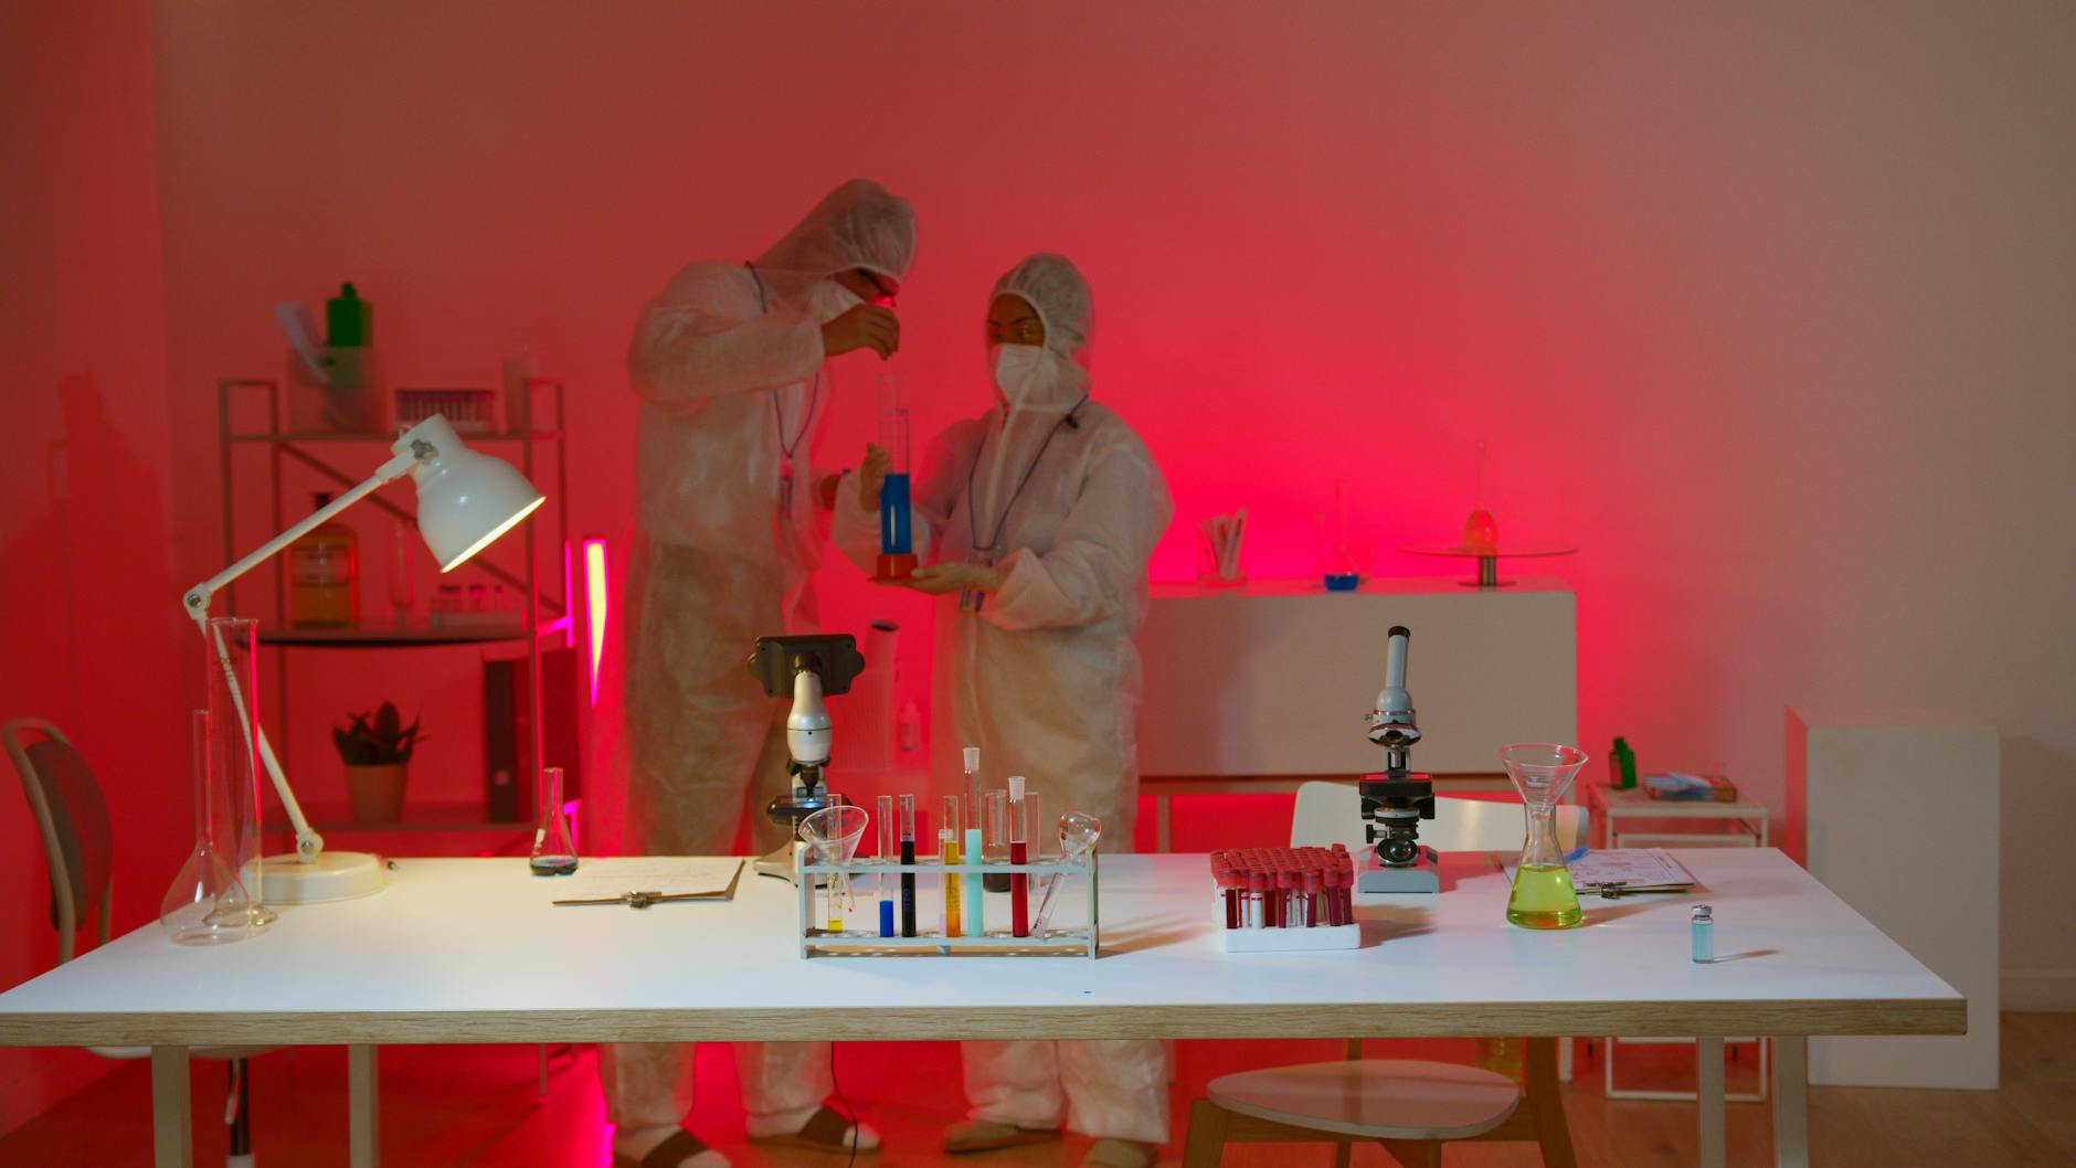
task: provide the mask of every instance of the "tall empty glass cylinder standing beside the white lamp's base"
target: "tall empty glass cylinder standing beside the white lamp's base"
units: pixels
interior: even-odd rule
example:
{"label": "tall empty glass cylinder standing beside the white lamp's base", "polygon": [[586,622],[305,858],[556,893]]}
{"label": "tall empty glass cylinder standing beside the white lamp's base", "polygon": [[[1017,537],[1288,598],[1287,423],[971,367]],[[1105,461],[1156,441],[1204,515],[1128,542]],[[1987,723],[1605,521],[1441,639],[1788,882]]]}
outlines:
{"label": "tall empty glass cylinder standing beside the white lamp's base", "polygon": [[[249,616],[216,616],[208,629],[210,685],[210,786],[222,792],[216,849],[239,873],[243,905],[220,905],[216,915],[243,915],[251,929],[274,923],[266,907],[260,865],[260,653],[253,647],[257,622]],[[212,807],[216,795],[210,797]]]}

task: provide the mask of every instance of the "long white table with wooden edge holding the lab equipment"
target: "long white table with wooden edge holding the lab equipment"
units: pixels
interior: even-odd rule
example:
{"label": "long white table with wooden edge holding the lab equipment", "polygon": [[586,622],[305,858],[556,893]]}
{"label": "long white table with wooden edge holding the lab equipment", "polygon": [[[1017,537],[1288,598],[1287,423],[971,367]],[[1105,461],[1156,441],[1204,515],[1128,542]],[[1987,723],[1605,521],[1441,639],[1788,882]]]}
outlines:
{"label": "long white table with wooden edge holding the lab equipment", "polygon": [[[185,1048],[347,1044],[351,1164],[374,1166],[376,1044],[1009,1037],[1787,1035],[1779,1164],[1806,1164],[1802,1035],[1960,1033],[1966,1004],[1771,849],[1677,853],[1717,907],[1590,900],[1590,925],[1505,923],[1486,857],[1449,888],[1368,898],[1364,948],[1225,954],[1202,855],[1113,857],[1104,956],[795,956],[791,888],[733,902],[552,909],[523,859],[403,859],[386,892],[284,909],[264,936],[176,948],[156,925],[0,994],[0,1044],[152,1046],[158,1164],[191,1164]],[[1792,1054],[1790,1054],[1792,1052]],[[1721,1060],[1700,1108],[1723,1160]]]}

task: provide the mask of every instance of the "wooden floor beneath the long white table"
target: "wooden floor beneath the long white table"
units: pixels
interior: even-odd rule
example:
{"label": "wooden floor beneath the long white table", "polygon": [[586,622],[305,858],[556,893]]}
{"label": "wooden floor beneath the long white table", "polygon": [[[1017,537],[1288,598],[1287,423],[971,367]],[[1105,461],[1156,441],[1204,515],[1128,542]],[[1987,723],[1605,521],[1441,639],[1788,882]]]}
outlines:
{"label": "wooden floor beneath the long white table", "polygon": [[[1470,1060],[1468,1041],[1372,1044],[1370,1054]],[[1217,1075],[1248,1066],[1333,1058],[1322,1041],[1190,1041],[1179,1046],[1175,1135],[1165,1162],[1181,1158],[1183,1114]],[[1694,1162],[1694,1112],[1686,1104],[1609,1102],[1601,1093],[1596,1054],[1584,1054],[1567,1085],[1565,1108],[1580,1164],[1632,1168]],[[1623,1054],[1628,1060],[1630,1056]],[[1650,1073],[1646,1056],[1634,1066]],[[1677,1054],[1655,1056],[1661,1060]],[[1688,1062],[1690,1066],[1690,1062]],[[768,1156],[743,1143],[733,1052],[702,1048],[698,1129],[739,1166],[801,1164],[837,1168],[841,1158]],[[1669,1062],[1661,1068],[1671,1070]],[[1630,1062],[1621,1064],[1628,1079]],[[1750,1066],[1742,1073],[1750,1077]],[[222,1164],[224,1087],[216,1064],[197,1064],[197,1164]],[[862,1158],[876,1168],[949,1166],[1038,1168],[1080,1164],[1082,1139],[990,1156],[947,1158],[938,1129],[959,1097],[959,1058],[949,1044],[845,1046],[837,1056],[839,1087],[886,1133],[886,1151]],[[255,1151],[264,1168],[345,1166],[345,1052],[305,1048],[270,1054],[253,1064]],[[1731,1089],[1740,1068],[1731,1070]],[[0,1137],[8,1168],[93,1166],[147,1168],[149,1075],[125,1064],[93,1087]],[[604,1168],[608,1162],[604,1106],[594,1054],[558,1050],[550,1058],[548,1093],[538,1091],[536,1048],[388,1048],[382,1052],[382,1164],[386,1168]],[[1729,1162],[1771,1164],[1771,1120],[1763,1104],[1729,1108]],[[2005,1014],[2003,1089],[1889,1091],[1819,1087],[1810,1091],[1812,1162],[1827,1168],[2070,1166],[2076,1164],[2076,1014]],[[1233,1168],[1318,1166],[1324,1145],[1231,1147]],[[1534,1166],[1530,1145],[1451,1145],[1451,1168]],[[1356,1164],[1389,1166],[1378,1149],[1358,1149]]]}

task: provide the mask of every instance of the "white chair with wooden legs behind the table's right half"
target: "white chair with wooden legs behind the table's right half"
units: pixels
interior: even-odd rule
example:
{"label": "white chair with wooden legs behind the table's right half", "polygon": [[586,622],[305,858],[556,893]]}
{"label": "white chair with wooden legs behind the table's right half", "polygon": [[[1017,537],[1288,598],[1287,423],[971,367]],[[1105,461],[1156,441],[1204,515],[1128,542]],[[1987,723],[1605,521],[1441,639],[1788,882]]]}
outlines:
{"label": "white chair with wooden legs behind the table's right half", "polygon": [[[1293,846],[1362,840],[1362,797],[1345,782],[1306,782],[1291,819]],[[1437,799],[1420,838],[1437,851],[1520,851],[1522,807],[1482,799]],[[1582,807],[1557,809],[1567,851],[1586,838]],[[1376,1141],[1405,1168],[1439,1168],[1441,1145],[1455,1139],[1534,1141],[1549,1168],[1576,1168],[1572,1133],[1557,1087],[1557,1039],[1526,1039],[1526,1077],[1513,1079],[1453,1062],[1362,1058],[1349,1039],[1341,1062],[1273,1066],[1214,1079],[1190,1110],[1185,1168],[1212,1168],[1227,1143],[1335,1143],[1347,1168],[1354,1143]]]}

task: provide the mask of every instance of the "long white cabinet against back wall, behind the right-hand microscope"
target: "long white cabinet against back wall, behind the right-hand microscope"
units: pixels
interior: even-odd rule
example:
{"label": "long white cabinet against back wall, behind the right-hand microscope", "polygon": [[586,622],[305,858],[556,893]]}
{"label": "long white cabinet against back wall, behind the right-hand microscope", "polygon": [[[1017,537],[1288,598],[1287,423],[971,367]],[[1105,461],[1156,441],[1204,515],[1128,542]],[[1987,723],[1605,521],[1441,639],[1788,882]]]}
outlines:
{"label": "long white cabinet against back wall, behind the right-hand microscope", "polygon": [[1169,797],[1295,790],[1381,768],[1364,716],[1385,685],[1385,635],[1412,629],[1416,770],[1457,790],[1509,788],[1499,749],[1578,741],[1576,600],[1551,577],[1474,589],[1383,577],[1244,587],[1158,583],[1140,629],[1138,749],[1169,849]]}

